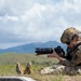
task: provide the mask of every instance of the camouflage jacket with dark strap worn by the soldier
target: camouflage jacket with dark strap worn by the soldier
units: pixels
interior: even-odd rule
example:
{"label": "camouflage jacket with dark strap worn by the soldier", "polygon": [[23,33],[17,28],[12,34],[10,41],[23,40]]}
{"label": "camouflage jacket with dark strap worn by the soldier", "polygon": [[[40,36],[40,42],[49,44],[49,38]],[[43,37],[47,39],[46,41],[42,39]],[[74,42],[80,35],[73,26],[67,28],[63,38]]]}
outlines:
{"label": "camouflage jacket with dark strap worn by the soldier", "polygon": [[78,66],[81,65],[81,42],[75,48],[67,49],[67,56],[64,65],[66,66]]}

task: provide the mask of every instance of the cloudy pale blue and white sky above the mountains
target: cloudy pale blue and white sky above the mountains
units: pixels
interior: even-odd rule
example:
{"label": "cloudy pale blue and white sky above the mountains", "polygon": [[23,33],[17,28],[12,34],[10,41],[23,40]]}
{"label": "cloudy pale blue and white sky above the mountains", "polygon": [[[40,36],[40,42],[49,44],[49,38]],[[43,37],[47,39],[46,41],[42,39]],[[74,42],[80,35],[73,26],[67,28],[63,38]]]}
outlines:
{"label": "cloudy pale blue and white sky above the mountains", "polygon": [[0,49],[58,41],[81,28],[81,0],[0,0]]}

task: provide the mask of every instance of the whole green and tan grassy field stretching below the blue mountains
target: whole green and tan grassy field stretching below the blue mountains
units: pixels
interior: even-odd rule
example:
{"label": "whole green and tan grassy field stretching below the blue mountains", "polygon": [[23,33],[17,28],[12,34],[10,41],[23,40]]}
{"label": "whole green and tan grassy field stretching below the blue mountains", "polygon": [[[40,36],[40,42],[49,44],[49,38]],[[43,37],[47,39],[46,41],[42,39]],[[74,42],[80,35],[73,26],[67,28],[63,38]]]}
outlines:
{"label": "whole green and tan grassy field stretching below the blue mountains", "polygon": [[19,62],[24,67],[31,62],[31,73],[25,75],[37,81],[81,81],[81,76],[63,76],[63,75],[39,75],[39,69],[42,67],[57,64],[58,60],[48,58],[46,56],[36,56],[35,54],[15,54],[5,53],[0,54],[0,76],[21,76],[16,72],[16,63]]}

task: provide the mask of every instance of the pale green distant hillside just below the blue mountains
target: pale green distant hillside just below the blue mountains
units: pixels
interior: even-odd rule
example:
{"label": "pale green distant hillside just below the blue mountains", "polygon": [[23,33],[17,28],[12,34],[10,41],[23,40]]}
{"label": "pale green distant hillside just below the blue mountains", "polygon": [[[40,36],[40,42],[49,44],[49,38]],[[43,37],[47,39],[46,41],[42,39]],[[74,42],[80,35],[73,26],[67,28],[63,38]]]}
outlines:
{"label": "pale green distant hillside just below the blue mountains", "polygon": [[51,62],[52,64],[55,64],[57,63],[57,59],[48,58],[46,56],[36,56],[35,54],[15,54],[15,53],[0,54],[0,65],[15,64],[17,62],[21,62],[23,64],[26,64],[28,62],[35,62],[38,64]]}

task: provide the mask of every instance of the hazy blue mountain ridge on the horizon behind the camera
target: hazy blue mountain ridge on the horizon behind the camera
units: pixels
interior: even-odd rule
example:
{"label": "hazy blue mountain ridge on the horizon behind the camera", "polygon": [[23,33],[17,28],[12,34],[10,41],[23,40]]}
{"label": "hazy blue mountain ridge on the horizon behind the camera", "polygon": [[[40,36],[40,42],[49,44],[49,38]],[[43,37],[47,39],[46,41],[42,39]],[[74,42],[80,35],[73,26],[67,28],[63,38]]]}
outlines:
{"label": "hazy blue mountain ridge on the horizon behind the camera", "polygon": [[66,49],[65,44],[62,44],[57,41],[49,41],[45,43],[29,43],[29,44],[23,44],[18,46],[13,46],[4,50],[0,50],[0,53],[6,53],[6,52],[14,52],[14,53],[35,53],[36,48],[56,48],[57,45],[60,45],[64,50]]}

